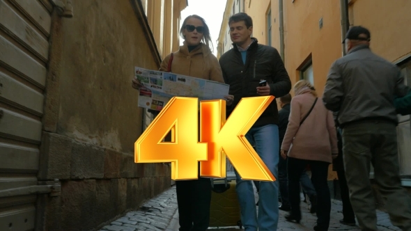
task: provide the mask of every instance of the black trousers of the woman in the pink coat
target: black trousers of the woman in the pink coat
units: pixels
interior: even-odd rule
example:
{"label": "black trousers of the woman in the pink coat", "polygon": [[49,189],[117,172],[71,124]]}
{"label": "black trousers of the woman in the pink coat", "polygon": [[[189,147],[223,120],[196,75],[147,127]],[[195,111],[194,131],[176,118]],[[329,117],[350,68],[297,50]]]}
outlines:
{"label": "black trousers of the woman in the pink coat", "polygon": [[331,212],[331,196],[327,184],[328,166],[325,161],[308,161],[288,157],[288,200],[290,200],[291,214],[301,218],[300,209],[300,177],[307,164],[311,166],[311,181],[317,192],[317,226],[327,229]]}

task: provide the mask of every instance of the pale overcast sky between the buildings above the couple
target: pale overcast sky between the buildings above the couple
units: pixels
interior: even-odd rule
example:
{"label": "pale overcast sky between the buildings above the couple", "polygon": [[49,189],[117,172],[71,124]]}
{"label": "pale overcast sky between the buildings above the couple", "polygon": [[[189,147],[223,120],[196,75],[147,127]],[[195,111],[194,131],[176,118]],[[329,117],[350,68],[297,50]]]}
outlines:
{"label": "pale overcast sky between the buildings above the couple", "polygon": [[[181,12],[181,22],[188,15],[199,15],[206,20],[210,28],[212,46],[214,47],[213,54],[217,55],[217,39],[219,30],[222,26],[224,9],[226,8],[226,0],[188,0],[188,6]],[[180,44],[183,45],[183,39],[180,39]]]}

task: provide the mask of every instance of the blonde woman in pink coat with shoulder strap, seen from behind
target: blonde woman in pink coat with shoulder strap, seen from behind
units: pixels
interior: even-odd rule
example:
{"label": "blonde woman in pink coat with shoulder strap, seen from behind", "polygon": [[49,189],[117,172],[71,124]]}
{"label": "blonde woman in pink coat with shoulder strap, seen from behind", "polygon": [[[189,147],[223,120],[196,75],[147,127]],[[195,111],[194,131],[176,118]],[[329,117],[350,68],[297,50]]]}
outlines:
{"label": "blonde woman in pink coat with shoulder strap, seen from behind", "polygon": [[301,220],[300,176],[311,166],[311,181],[317,191],[317,225],[328,230],[331,197],[327,184],[328,166],[338,154],[336,128],[332,112],[317,97],[316,89],[306,80],[295,83],[288,127],[281,145],[281,157],[287,161],[288,193],[291,212],[287,221]]}

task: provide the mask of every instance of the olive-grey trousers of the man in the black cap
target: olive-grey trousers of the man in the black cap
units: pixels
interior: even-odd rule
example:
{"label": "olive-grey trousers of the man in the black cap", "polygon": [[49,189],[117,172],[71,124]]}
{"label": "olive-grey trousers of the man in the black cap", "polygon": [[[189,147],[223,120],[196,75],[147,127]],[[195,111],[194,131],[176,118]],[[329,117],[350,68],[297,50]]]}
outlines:
{"label": "olive-grey trousers of the man in the black cap", "polygon": [[385,209],[391,223],[401,230],[411,230],[411,198],[401,186],[397,148],[393,123],[370,120],[343,127],[343,159],[350,202],[362,230],[377,230],[370,164],[374,166],[375,184],[386,199]]}

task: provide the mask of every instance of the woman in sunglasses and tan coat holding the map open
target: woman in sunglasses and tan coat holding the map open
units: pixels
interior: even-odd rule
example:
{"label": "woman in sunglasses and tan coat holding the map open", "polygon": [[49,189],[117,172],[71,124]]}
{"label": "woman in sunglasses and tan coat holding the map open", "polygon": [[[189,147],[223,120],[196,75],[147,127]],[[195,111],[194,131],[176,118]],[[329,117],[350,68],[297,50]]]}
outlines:
{"label": "woman in sunglasses and tan coat holding the map open", "polygon": [[[210,50],[212,42],[205,20],[198,15],[188,16],[181,26],[180,36],[184,39],[183,46],[173,53],[171,64],[171,54],[164,58],[160,71],[171,70],[175,74],[224,83],[221,67]],[[133,88],[139,89],[141,86],[137,79],[132,80]],[[226,105],[231,105],[233,95],[226,95],[225,98]],[[199,176],[198,180],[176,181],[176,191],[179,230],[207,230],[210,221],[210,179]]]}

